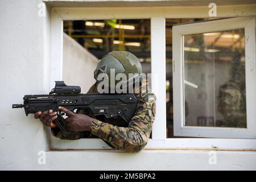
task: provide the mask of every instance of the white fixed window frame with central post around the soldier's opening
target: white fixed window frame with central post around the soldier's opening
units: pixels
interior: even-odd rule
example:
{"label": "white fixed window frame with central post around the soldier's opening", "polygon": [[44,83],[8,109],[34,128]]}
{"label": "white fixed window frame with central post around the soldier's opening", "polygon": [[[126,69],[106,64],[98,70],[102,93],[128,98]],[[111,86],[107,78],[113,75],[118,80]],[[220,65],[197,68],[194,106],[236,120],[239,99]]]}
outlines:
{"label": "white fixed window frame with central post around the soldier's opening", "polygon": [[[236,8],[240,9],[240,7]],[[50,88],[55,80],[63,76],[63,20],[97,20],[97,19],[151,19],[151,72],[158,75],[159,81],[152,81],[155,92],[156,118],[152,129],[152,138],[146,150],[255,150],[255,139],[210,139],[210,138],[166,138],[166,18],[208,17],[208,6],[189,7],[182,13],[183,7],[94,7],[94,8],[53,8],[51,11],[51,76]],[[241,7],[243,9],[243,7]],[[112,13],[110,13],[112,12]],[[133,12],[133,13],[131,13]],[[138,13],[135,13],[138,12]],[[201,13],[199,13],[201,12]],[[220,16],[237,16],[233,9],[220,9]],[[254,11],[251,11],[254,12]],[[180,14],[181,13],[181,14]],[[49,88],[49,89],[50,89]],[[159,108],[159,109],[158,109]],[[111,150],[101,139],[61,140],[51,135],[52,150]]]}

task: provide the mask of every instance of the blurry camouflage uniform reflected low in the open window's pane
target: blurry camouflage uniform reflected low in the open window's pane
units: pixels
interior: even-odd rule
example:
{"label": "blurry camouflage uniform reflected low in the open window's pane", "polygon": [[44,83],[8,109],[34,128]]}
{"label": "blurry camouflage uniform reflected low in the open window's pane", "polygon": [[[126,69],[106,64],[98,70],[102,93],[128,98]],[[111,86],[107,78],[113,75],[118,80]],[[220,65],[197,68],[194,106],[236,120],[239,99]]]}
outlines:
{"label": "blurry camouflage uniform reflected low in the open window's pane", "polygon": [[218,111],[224,116],[222,126],[246,127],[245,90],[228,81],[220,86],[218,101]]}

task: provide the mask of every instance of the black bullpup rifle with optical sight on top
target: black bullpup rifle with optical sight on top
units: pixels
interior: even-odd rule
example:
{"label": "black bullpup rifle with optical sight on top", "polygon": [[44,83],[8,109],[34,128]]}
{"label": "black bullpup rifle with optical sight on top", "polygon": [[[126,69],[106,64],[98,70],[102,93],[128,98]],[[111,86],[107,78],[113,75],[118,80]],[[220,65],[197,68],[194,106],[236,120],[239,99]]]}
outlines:
{"label": "black bullpup rifle with optical sight on top", "polygon": [[55,81],[55,88],[49,94],[26,95],[23,104],[13,104],[13,108],[24,107],[26,115],[38,111],[57,111],[58,117],[53,121],[63,132],[68,134],[61,118],[59,106],[75,112],[76,109],[86,110],[90,115],[104,115],[105,118],[120,116],[126,122],[133,117],[137,108],[138,98],[135,94],[81,94],[80,86],[68,86],[64,81]]}

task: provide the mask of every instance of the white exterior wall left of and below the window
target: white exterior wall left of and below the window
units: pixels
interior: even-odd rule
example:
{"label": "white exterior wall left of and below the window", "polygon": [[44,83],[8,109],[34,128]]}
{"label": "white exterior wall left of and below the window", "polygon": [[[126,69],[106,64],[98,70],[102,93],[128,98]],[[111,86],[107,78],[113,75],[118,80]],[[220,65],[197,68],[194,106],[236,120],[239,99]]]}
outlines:
{"label": "white exterior wall left of and below the window", "polygon": [[49,146],[46,129],[11,104],[49,92],[49,17],[38,16],[40,2],[0,1],[0,169],[256,169],[253,151],[217,151],[216,165],[208,151],[47,151],[39,165],[38,152]]}

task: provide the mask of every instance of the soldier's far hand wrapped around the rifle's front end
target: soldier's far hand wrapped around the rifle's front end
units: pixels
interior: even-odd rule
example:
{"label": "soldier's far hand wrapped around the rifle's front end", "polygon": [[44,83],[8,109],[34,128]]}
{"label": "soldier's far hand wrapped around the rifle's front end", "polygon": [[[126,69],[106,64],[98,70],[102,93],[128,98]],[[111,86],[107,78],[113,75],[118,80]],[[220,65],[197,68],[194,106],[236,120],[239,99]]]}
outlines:
{"label": "soldier's far hand wrapped around the rifle's front end", "polygon": [[53,123],[52,121],[54,121],[55,119],[57,119],[57,112],[53,112],[53,110],[47,110],[47,111],[38,111],[37,113],[35,113],[34,117],[36,119],[40,119],[40,121],[49,127],[57,127],[57,125],[55,123]]}

